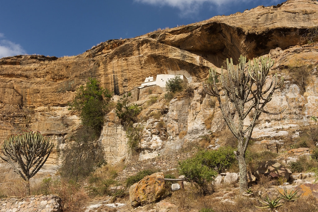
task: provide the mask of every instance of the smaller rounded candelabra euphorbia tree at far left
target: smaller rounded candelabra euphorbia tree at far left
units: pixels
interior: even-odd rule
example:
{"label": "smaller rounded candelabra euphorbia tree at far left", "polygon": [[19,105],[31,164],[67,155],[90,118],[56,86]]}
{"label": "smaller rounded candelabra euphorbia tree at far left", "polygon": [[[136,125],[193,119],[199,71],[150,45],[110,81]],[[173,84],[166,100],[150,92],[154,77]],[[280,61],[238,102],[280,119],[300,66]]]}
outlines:
{"label": "smaller rounded candelabra euphorbia tree at far left", "polygon": [[31,130],[11,135],[1,145],[0,158],[10,163],[13,171],[26,182],[27,195],[30,195],[30,178],[45,164],[53,150],[53,143],[40,132]]}

